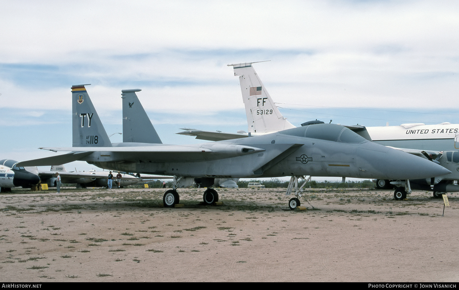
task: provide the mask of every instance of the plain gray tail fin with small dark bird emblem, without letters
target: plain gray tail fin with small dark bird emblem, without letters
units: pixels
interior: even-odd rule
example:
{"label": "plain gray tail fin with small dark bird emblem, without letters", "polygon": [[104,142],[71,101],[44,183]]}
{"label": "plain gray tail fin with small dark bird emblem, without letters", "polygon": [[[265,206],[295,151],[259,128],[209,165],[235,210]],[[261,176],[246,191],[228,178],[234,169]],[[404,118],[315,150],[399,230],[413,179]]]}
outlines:
{"label": "plain gray tail fin with small dark bird emblem, without letters", "polygon": [[162,144],[150,118],[135,92],[141,89],[123,89],[123,142]]}

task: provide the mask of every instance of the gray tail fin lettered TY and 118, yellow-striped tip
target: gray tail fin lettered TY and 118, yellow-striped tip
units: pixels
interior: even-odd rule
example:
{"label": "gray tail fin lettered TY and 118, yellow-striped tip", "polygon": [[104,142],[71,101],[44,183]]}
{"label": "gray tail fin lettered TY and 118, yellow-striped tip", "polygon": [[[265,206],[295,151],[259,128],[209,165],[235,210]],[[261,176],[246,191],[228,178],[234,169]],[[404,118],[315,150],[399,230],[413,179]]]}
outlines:
{"label": "gray tail fin lettered TY and 118, yellow-striped tip", "polygon": [[72,86],[72,133],[73,147],[111,147],[101,119],[84,86]]}

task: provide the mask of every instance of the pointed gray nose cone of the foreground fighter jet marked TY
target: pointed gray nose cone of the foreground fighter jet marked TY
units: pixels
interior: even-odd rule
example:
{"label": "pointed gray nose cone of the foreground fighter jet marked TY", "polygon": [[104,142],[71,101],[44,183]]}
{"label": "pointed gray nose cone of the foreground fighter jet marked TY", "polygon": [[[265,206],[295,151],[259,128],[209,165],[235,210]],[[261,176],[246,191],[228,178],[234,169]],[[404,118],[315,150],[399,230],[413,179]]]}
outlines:
{"label": "pointed gray nose cone of the foreground fighter jet marked TY", "polygon": [[372,150],[367,148],[363,151],[369,161],[369,166],[381,175],[378,177],[380,179],[383,179],[382,176],[384,179],[420,179],[451,173],[435,162],[401,150],[388,147],[381,150],[381,148],[373,147]]}

